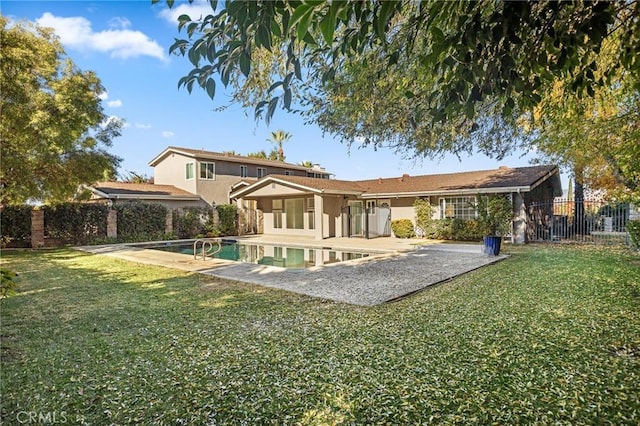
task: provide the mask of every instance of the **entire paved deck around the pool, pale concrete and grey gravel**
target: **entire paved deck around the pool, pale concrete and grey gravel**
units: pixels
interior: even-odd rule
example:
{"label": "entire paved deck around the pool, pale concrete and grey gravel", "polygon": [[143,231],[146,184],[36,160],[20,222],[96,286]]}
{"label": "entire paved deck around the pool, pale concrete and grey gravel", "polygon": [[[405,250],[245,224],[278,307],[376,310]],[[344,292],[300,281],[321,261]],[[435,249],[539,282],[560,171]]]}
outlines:
{"label": "entire paved deck around the pool, pale concrete and grey gravel", "polygon": [[369,257],[306,269],[193,257],[128,244],[85,246],[79,250],[198,272],[234,281],[301,293],[336,302],[373,306],[450,280],[507,256],[487,256],[481,244],[451,244],[393,237],[360,239],[303,237],[233,237],[251,244],[367,251]]}

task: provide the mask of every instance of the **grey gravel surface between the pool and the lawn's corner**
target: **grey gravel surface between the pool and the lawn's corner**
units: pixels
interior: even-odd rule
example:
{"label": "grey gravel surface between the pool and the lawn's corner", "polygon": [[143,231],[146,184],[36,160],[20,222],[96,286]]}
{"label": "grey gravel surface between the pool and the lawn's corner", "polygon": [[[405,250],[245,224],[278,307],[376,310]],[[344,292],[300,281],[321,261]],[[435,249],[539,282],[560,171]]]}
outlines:
{"label": "grey gravel surface between the pool and the lawn's corner", "polygon": [[422,247],[383,258],[376,256],[310,269],[236,264],[200,272],[338,302],[373,306],[506,257],[484,255],[478,246],[472,250],[456,250],[450,245],[446,248]]}

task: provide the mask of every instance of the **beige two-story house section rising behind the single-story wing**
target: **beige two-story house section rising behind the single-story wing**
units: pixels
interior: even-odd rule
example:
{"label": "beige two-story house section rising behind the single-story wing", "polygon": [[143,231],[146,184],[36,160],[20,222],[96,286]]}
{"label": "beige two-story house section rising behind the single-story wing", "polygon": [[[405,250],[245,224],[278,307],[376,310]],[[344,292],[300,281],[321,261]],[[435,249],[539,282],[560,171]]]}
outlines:
{"label": "beige two-story house section rising behind the single-story wing", "polygon": [[154,183],[173,185],[202,197],[209,204],[229,203],[231,188],[239,182],[253,183],[267,175],[329,179],[319,167],[170,146],[149,162]]}

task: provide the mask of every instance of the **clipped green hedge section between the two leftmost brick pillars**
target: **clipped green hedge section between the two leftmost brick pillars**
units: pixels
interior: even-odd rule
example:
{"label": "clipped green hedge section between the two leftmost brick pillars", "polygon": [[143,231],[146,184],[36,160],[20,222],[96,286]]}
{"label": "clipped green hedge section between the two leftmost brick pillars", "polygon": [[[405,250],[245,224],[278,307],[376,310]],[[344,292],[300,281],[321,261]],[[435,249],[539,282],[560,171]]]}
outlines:
{"label": "clipped green hedge section between the two leftmost brick pillars", "polygon": [[103,204],[60,203],[42,210],[45,236],[60,244],[88,244],[107,236],[109,208]]}

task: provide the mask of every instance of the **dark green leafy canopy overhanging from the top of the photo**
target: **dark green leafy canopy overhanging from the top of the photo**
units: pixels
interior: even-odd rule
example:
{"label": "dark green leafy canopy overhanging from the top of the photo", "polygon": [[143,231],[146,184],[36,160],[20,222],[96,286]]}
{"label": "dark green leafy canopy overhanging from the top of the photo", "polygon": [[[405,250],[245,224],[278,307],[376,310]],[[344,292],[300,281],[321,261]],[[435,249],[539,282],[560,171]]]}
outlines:
{"label": "dark green leafy canopy overhanging from the top of the photo", "polygon": [[[639,1],[211,5],[179,18],[188,38],[171,50],[193,65],[179,86],[214,97],[219,78],[256,115],[302,111],[347,142],[500,157],[558,80],[578,103],[621,75],[640,88]],[[605,66],[598,56],[612,38],[619,48]]]}

